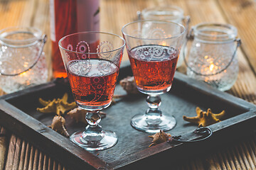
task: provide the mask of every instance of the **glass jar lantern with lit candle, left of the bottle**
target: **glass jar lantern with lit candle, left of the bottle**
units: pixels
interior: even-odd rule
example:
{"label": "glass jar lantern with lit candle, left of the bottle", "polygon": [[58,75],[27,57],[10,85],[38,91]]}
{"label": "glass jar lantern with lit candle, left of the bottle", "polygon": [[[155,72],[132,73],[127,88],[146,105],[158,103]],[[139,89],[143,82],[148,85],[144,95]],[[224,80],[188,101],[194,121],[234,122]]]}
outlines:
{"label": "glass jar lantern with lit candle, left of the bottle", "polygon": [[46,83],[46,35],[31,27],[0,30],[0,87],[7,94]]}

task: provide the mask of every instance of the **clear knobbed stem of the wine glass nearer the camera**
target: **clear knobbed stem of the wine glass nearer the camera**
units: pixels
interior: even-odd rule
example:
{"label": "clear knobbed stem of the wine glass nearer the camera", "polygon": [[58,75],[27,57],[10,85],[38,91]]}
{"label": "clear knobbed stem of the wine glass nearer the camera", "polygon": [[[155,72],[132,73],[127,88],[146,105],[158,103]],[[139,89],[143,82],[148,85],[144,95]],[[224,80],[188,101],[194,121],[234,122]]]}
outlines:
{"label": "clear knobbed stem of the wine glass nearer the camera", "polygon": [[97,142],[104,137],[102,132],[102,127],[99,125],[100,123],[100,111],[87,112],[85,115],[85,119],[87,120],[87,127],[85,131],[82,133],[82,139],[92,142]]}

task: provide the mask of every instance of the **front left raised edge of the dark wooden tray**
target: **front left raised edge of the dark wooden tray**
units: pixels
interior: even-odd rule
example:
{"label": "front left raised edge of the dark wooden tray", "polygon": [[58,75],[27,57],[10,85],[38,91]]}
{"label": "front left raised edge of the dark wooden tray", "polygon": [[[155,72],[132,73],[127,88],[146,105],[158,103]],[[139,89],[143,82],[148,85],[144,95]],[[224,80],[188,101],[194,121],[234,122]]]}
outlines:
{"label": "front left raised edge of the dark wooden tray", "polygon": [[[58,134],[58,132],[48,128],[4,100],[0,100],[0,113],[1,125],[32,142],[33,145],[51,154],[50,156],[59,159],[60,162],[68,162],[72,169],[74,167],[75,169],[81,169],[81,166],[82,169],[92,169],[92,167],[105,169],[107,166],[106,162],[103,162],[94,154],[80,148],[68,138],[63,137],[63,135]],[[24,127],[26,128],[24,129]],[[54,152],[51,150],[52,148],[55,148]]]}

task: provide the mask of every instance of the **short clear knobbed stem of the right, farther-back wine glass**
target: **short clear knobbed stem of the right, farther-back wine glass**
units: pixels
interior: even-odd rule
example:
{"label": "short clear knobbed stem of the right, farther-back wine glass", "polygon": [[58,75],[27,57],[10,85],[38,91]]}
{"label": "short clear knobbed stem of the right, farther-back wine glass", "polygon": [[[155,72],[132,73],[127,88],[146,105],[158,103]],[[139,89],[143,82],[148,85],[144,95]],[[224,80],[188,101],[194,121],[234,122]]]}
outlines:
{"label": "short clear knobbed stem of the right, farther-back wine glass", "polygon": [[161,116],[161,110],[159,106],[161,105],[161,97],[159,95],[149,95],[146,98],[146,102],[149,108],[146,111],[146,115],[149,117],[154,116],[155,118]]}

